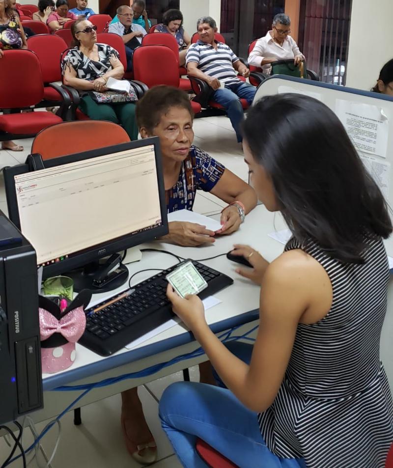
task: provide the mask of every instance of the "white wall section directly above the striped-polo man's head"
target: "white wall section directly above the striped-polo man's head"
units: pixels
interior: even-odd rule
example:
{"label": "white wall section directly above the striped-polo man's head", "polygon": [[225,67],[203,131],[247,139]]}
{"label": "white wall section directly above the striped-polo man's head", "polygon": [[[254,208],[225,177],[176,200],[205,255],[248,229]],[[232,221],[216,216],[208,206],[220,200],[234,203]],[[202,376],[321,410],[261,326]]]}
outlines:
{"label": "white wall section directly above the striped-polo man's head", "polygon": [[184,29],[192,36],[197,30],[197,20],[201,16],[211,16],[220,30],[221,0],[180,0]]}

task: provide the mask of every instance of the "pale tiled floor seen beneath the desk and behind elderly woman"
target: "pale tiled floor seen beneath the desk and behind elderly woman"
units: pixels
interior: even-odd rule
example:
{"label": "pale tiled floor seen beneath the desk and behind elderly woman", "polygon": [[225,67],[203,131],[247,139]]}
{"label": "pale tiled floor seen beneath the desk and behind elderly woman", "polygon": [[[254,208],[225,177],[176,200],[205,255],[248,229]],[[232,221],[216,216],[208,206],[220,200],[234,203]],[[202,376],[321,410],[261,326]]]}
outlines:
{"label": "pale tiled floor seen beneath the desk and behind elderly woman", "polygon": [[[204,151],[218,159],[228,169],[241,179],[248,180],[247,166],[243,161],[243,153],[236,142],[227,117],[208,117],[196,119],[194,123],[195,142]],[[24,145],[23,152],[0,151],[0,168],[6,165],[23,163],[31,147],[31,139],[15,140]],[[219,213],[225,203],[210,193],[198,193],[194,209],[201,214]],[[6,212],[4,184],[0,176],[0,209]],[[197,367],[192,368],[191,380],[198,381]],[[172,382],[182,380],[182,373],[177,372],[168,377],[158,379],[139,388],[140,399],[144,414],[158,446],[159,461],[154,468],[181,467],[167,437],[161,429],[158,418],[158,402],[164,389]],[[120,396],[115,395],[105,400],[85,406],[82,411],[83,424],[74,426],[73,413],[67,413],[61,419],[61,438],[52,462],[53,468],[135,468],[140,467],[128,454],[123,444],[120,428]],[[40,432],[46,423],[37,424]],[[57,438],[56,427],[43,439],[43,447],[47,454],[51,454]],[[32,438],[26,431],[24,446],[31,443]],[[10,449],[0,438],[0,464],[7,457]],[[30,457],[28,457],[30,458]],[[29,467],[45,466],[41,454],[38,455],[41,465],[34,460]],[[22,467],[18,460],[10,465],[12,468]]]}

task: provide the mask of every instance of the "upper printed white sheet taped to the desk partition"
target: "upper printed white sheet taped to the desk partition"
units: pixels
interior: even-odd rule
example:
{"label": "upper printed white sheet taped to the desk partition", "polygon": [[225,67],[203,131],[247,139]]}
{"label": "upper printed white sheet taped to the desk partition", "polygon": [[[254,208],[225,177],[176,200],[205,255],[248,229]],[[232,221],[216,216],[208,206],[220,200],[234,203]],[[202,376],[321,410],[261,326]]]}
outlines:
{"label": "upper printed white sheet taped to the desk partition", "polygon": [[336,114],[358,151],[386,158],[389,120],[381,107],[336,99]]}

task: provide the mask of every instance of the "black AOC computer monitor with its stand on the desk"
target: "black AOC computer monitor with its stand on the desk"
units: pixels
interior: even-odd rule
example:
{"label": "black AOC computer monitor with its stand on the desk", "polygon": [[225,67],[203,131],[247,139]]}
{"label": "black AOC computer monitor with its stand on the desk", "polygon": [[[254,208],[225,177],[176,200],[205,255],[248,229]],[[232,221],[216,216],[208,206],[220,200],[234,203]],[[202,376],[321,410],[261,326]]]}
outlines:
{"label": "black AOC computer monitor with its stand on the desk", "polygon": [[59,157],[43,167],[4,170],[9,218],[36,250],[43,278],[71,275],[76,291],[119,287],[128,270],[111,254],[168,233],[159,138]]}

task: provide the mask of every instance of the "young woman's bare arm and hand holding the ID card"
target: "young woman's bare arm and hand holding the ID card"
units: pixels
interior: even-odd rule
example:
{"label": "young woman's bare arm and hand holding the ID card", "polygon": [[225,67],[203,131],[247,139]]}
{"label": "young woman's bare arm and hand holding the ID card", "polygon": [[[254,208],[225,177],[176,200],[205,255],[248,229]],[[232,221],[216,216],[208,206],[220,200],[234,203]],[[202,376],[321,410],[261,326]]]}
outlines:
{"label": "young woman's bare arm and hand holding the ID card", "polygon": [[267,268],[250,365],[230,353],[209,329],[197,296],[181,299],[168,286],[175,313],[193,331],[225,385],[255,412],[272,405],[292,353],[298,323],[310,304],[309,285],[315,283],[311,275],[317,267],[309,268],[306,256],[297,250],[285,252]]}

